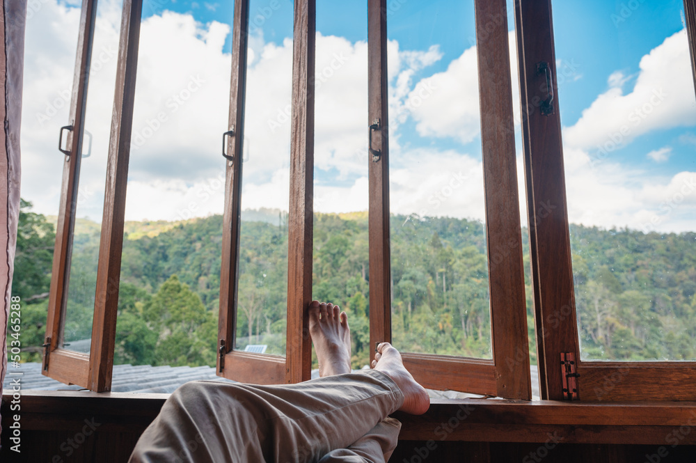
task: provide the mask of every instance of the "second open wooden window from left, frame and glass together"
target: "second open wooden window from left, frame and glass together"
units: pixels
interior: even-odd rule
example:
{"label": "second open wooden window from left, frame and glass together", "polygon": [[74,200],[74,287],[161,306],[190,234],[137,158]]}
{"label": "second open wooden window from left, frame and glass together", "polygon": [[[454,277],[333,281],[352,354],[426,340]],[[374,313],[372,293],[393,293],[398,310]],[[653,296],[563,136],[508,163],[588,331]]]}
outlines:
{"label": "second open wooden window from left, frame and glass together", "polygon": [[[264,21],[263,17],[260,17],[260,21],[255,21],[255,17],[250,18],[250,11],[257,10],[259,8],[250,8],[248,0],[235,1],[230,120],[229,131],[223,136],[223,154],[226,156],[228,167],[223,215],[217,367],[219,375],[237,381],[277,384],[310,379],[311,340],[306,308],[312,300],[315,1],[294,2],[292,77],[290,74],[287,75],[287,83],[290,84],[292,81],[292,94],[287,95],[290,100],[279,101],[277,108],[272,106],[260,109],[270,111],[269,117],[272,119],[277,117],[276,110],[278,114],[285,113],[283,120],[276,120],[280,129],[273,130],[273,134],[269,132],[268,138],[274,135],[286,136],[285,143],[289,143],[290,146],[288,151],[283,149],[285,146],[280,146],[280,150],[255,150],[254,143],[263,147],[264,140],[254,141],[244,136],[245,125],[253,120],[247,116],[255,109],[253,105],[258,104],[251,99],[247,79],[248,40],[253,37],[250,24],[258,31]],[[292,113],[289,111],[290,108]],[[260,120],[262,124],[267,123],[267,118],[262,117]],[[283,130],[283,127],[289,130]],[[285,206],[289,209],[287,218],[281,217],[281,223],[278,223],[279,228],[285,228],[285,235],[278,239],[283,246],[287,246],[287,262],[283,262],[283,265],[287,266],[287,299],[280,304],[283,309],[287,307],[287,337],[283,352],[271,355],[243,352],[240,349],[242,345],[237,342],[241,334],[239,324],[242,319],[239,316],[243,310],[249,310],[248,307],[242,308],[242,304],[248,304],[255,298],[254,292],[262,290],[262,281],[267,276],[263,267],[251,269],[247,266],[246,276],[240,270],[240,258],[244,249],[240,247],[240,241],[245,226],[242,219],[244,175],[253,173],[251,168],[254,162],[274,162],[270,156],[278,155],[278,151],[290,159],[290,196]],[[248,169],[249,173],[245,174],[244,169]],[[284,220],[286,221],[283,223]],[[285,275],[285,268],[267,270]],[[245,279],[251,279],[246,287]],[[248,318],[248,323],[251,323],[252,317]],[[248,332],[251,338],[251,329]]]}

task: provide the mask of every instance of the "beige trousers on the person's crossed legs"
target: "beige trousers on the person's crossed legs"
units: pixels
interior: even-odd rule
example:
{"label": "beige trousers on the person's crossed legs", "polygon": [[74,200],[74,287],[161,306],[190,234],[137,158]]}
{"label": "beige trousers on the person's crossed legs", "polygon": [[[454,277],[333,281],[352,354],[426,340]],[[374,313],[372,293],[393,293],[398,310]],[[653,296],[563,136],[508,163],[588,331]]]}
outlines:
{"label": "beige trousers on the person's crossed legs", "polygon": [[130,462],[383,463],[404,395],[377,370],[255,386],[196,381],[164,403]]}

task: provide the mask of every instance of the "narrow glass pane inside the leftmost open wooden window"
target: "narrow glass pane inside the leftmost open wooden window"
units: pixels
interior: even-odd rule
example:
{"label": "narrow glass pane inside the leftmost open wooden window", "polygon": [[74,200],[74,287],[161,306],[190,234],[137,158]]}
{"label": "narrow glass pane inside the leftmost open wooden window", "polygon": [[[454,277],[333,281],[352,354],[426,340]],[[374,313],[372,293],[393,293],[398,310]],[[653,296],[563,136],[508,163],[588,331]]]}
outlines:
{"label": "narrow glass pane inside the leftmost open wooden window", "polygon": [[120,0],[97,3],[82,153],[71,160],[79,162],[79,178],[61,345],[78,352],[91,346],[121,7]]}

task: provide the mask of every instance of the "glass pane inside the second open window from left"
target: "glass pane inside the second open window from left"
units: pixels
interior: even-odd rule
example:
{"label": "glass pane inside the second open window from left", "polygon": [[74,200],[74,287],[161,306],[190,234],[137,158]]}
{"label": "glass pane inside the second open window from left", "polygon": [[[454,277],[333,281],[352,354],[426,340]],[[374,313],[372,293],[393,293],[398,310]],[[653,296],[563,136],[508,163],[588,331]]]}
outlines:
{"label": "glass pane inside the second open window from left", "polygon": [[235,349],[285,355],[291,1],[251,0]]}

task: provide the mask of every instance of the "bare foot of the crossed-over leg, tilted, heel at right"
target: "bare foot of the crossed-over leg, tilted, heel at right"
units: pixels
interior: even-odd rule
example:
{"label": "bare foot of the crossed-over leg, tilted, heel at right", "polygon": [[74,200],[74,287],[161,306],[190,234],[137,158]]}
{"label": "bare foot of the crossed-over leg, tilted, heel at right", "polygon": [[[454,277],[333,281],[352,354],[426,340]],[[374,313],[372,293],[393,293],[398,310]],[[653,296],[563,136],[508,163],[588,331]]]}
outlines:
{"label": "bare foot of the crossed-over leg, tilted, heel at right", "polygon": [[422,415],[428,411],[430,407],[428,393],[416,382],[416,379],[413,379],[409,370],[406,370],[401,354],[390,343],[381,343],[377,346],[372,368],[393,379],[404,393],[404,405],[400,411],[411,415]]}

